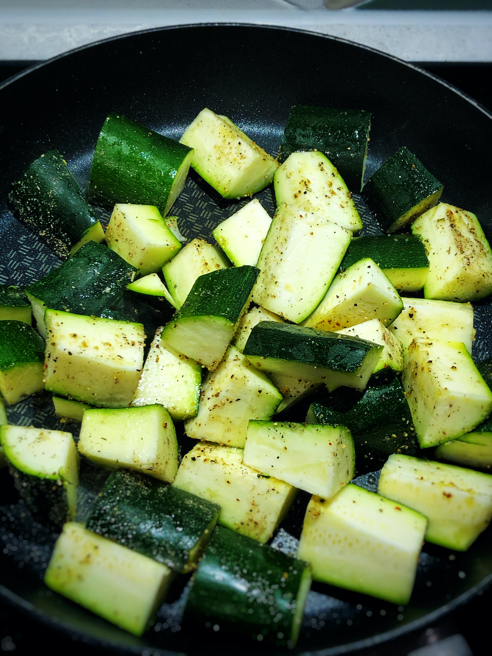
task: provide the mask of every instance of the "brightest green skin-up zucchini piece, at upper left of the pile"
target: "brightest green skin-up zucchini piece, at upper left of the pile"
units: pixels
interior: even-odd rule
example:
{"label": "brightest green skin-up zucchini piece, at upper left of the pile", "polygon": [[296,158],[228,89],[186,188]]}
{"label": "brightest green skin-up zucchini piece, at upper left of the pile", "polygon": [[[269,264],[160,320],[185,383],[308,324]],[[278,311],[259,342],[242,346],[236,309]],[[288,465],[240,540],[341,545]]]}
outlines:
{"label": "brightest green skin-up zucchini piece, at upper left of the pile", "polygon": [[155,205],[167,215],[181,193],[193,148],[111,113],[92,161],[89,197],[94,203]]}

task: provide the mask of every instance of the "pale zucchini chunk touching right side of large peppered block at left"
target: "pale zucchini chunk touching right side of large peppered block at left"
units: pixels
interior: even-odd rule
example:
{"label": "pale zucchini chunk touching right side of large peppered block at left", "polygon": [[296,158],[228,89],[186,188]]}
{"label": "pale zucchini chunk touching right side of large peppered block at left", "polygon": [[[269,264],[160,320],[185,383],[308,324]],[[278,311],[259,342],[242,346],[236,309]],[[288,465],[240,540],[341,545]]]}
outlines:
{"label": "pale zucchini chunk touching right side of large peppered block at left", "polygon": [[173,421],[183,421],[198,412],[201,365],[166,348],[162,331],[157,329],[150,345],[132,405],[160,403]]}

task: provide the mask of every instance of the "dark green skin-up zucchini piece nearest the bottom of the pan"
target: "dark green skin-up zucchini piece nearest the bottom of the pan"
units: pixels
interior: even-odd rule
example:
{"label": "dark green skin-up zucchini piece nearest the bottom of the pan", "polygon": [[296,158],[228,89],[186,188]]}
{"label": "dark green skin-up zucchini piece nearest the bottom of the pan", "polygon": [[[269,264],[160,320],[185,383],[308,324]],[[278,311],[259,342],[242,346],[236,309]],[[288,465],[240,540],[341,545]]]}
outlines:
{"label": "dark green skin-up zucchini piece nearest the bottom of the pan", "polygon": [[310,584],[306,562],[218,526],[194,575],[185,618],[195,630],[213,634],[218,625],[293,647]]}

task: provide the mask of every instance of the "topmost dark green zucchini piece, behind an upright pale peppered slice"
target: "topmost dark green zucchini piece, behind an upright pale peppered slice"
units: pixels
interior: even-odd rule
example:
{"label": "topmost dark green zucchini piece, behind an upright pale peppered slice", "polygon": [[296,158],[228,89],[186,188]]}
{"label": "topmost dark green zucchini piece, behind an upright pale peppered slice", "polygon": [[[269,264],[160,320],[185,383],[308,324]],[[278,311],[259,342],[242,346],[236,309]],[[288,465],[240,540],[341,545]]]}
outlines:
{"label": "topmost dark green zucchini piece, behind an upright pale peppered slice", "polygon": [[371,114],[365,110],[295,105],[283,131],[279,161],[298,150],[319,150],[337,167],[348,188],[359,192],[370,128]]}

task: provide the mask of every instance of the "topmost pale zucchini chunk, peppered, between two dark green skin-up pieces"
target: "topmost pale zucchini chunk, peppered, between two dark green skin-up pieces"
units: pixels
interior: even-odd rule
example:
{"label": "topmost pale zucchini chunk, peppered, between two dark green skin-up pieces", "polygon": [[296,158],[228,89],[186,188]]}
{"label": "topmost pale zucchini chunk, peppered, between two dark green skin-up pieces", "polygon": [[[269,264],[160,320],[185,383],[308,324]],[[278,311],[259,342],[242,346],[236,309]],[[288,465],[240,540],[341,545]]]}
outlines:
{"label": "topmost pale zucchini chunk, peppered, between two dark green skin-up pieces", "polygon": [[224,198],[251,196],[266,187],[278,162],[226,116],[205,108],[181,144],[194,148],[192,167]]}

